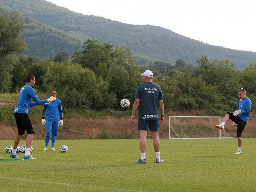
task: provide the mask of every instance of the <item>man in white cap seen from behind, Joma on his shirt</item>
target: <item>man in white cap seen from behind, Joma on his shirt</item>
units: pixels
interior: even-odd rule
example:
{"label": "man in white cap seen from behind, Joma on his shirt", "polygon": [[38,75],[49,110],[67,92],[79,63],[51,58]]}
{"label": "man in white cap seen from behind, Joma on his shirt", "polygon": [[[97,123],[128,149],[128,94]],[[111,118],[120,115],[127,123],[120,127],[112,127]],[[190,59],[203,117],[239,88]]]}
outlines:
{"label": "man in white cap seen from behind, Joma on his shirt", "polygon": [[[160,141],[158,136],[159,123],[164,122],[164,99],[159,85],[152,82],[153,73],[150,70],[144,71],[143,84],[138,85],[134,95],[131,120],[135,123],[135,112],[139,108],[138,130],[140,130],[140,155],[141,158],[135,163],[146,162],[146,139],[148,128],[153,138],[154,149],[156,153],[156,163],[164,162],[160,158]],[[158,104],[160,108],[160,117]]]}

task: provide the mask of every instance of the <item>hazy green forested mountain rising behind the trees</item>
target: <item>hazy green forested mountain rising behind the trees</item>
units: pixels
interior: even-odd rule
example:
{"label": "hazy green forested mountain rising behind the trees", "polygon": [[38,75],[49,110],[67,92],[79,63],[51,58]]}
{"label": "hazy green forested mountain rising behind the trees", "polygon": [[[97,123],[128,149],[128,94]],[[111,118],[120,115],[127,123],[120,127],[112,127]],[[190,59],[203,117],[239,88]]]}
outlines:
{"label": "hazy green forested mountain rising behind the trees", "polygon": [[145,58],[171,63],[181,58],[195,64],[198,58],[207,55],[209,59],[229,59],[236,68],[244,69],[256,61],[256,52],[204,44],[162,27],[130,25],[83,15],[45,0],[0,0],[0,5],[2,9],[23,14],[27,23],[24,31],[28,44],[26,54],[50,57],[64,51],[73,55],[83,49],[88,38],[101,38],[114,46],[131,47],[142,64]]}

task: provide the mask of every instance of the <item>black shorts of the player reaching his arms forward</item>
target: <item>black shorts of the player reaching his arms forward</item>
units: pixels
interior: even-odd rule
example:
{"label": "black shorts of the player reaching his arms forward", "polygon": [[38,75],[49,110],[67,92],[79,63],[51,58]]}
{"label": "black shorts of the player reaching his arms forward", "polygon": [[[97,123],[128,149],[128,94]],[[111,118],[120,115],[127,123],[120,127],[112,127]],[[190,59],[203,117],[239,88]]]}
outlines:
{"label": "black shorts of the player reaching his arms forward", "polygon": [[24,135],[25,130],[28,134],[34,134],[32,122],[27,113],[14,113],[18,128],[18,135]]}

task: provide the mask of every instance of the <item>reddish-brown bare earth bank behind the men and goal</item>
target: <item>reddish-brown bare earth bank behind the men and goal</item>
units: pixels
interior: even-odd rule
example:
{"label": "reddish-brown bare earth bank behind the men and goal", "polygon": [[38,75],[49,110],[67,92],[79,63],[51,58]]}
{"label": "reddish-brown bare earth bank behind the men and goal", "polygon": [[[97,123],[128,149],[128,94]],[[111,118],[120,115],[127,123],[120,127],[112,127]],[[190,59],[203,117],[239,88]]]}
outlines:
{"label": "reddish-brown bare earth bank behind the men and goal", "polygon": [[[169,111],[165,114],[165,121],[160,124],[159,138],[169,138],[168,116],[208,116],[204,110],[193,111]],[[225,115],[225,114],[223,114]],[[256,137],[256,114],[251,113],[248,124],[245,127],[242,137]],[[133,124],[130,117],[116,118],[107,116],[106,118],[70,118],[64,119],[64,125],[59,127],[58,139],[136,139],[139,138],[137,122]],[[33,123],[35,129],[34,139],[45,138],[45,126],[41,122]],[[236,137],[236,127],[228,121],[225,129],[230,137]],[[5,125],[0,123],[0,139],[14,139],[17,134],[16,125]],[[150,138],[150,132],[148,132]]]}

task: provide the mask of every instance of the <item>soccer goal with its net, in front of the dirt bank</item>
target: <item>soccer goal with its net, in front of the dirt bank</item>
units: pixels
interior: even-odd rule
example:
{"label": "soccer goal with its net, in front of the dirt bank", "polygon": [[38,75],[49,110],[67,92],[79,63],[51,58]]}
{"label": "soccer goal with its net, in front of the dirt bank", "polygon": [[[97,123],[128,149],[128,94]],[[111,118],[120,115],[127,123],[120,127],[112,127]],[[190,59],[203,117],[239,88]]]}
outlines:
{"label": "soccer goal with its net, in front of the dirt bank", "polygon": [[169,139],[231,138],[215,127],[220,123],[221,117],[169,116]]}

